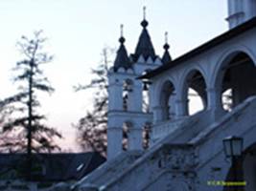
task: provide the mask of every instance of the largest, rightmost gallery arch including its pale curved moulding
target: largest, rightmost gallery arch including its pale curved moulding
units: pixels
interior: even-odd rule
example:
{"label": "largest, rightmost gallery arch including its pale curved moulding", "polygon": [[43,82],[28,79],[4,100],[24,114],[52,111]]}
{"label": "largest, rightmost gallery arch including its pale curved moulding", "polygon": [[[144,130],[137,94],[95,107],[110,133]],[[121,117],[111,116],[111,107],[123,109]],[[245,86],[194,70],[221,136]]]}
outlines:
{"label": "largest, rightmost gallery arch including its pale curved moulding", "polygon": [[[249,49],[241,46],[221,54],[212,76],[211,87],[217,91],[224,110],[230,111],[230,108],[241,103],[246,97],[256,95],[256,90],[252,90],[252,87],[256,86],[255,76],[256,59]],[[243,86],[243,83],[246,86]],[[228,92],[228,95],[224,95],[225,92]],[[224,96],[231,100],[226,108]]]}

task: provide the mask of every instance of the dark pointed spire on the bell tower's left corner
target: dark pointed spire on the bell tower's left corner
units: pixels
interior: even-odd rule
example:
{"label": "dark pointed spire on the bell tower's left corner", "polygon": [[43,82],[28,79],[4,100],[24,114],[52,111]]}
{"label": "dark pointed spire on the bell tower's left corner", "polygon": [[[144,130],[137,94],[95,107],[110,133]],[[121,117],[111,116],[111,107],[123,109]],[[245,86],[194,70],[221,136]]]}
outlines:
{"label": "dark pointed spire on the bell tower's left corner", "polygon": [[117,51],[116,59],[114,61],[114,71],[116,72],[119,68],[128,69],[131,68],[131,64],[128,59],[128,52],[125,47],[126,38],[124,37],[124,25],[120,26],[121,36],[119,38],[120,47]]}

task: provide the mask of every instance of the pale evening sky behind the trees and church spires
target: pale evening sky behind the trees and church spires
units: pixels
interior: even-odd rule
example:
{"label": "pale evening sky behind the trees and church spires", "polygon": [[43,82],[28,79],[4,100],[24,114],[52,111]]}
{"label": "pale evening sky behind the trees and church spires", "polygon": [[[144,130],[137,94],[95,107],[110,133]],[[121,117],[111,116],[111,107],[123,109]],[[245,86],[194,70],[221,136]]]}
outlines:
{"label": "pale evening sky behind the trees and church spires", "polygon": [[228,29],[223,0],[1,0],[0,99],[15,92],[12,68],[21,58],[17,40],[43,30],[48,38],[45,49],[55,56],[44,71],[56,91],[41,96],[42,112],[47,123],[62,133],[60,146],[78,152],[72,123],[91,108],[93,97],[86,91],[75,93],[73,86],[89,83],[91,68],[101,61],[105,46],[118,48],[120,24],[124,24],[128,53],[134,53],[144,6],[159,55],[165,32],[175,58]]}

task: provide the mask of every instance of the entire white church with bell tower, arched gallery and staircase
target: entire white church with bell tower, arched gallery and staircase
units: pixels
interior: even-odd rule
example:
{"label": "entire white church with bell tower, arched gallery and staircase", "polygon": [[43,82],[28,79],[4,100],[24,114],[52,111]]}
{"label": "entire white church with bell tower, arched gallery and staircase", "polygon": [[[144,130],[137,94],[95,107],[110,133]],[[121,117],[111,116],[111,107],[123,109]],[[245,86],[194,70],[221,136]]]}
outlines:
{"label": "entire white church with bell tower, arched gallery and staircase", "polygon": [[256,191],[255,16],[256,0],[228,0],[229,31],[176,59],[167,41],[154,52],[145,17],[135,53],[122,34],[108,72],[107,162],[73,190]]}

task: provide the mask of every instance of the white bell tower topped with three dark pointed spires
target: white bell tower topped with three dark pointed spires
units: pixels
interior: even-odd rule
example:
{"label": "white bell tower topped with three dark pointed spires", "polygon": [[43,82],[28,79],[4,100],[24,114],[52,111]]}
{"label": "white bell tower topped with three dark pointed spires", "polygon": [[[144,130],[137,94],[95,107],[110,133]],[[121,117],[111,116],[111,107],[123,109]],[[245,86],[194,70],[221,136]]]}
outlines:
{"label": "white bell tower topped with three dark pointed spires", "polygon": [[[141,22],[142,32],[135,52],[128,56],[126,39],[121,25],[120,47],[113,67],[108,70],[108,113],[107,113],[107,159],[113,159],[126,150],[143,150],[143,135],[146,124],[152,120],[151,109],[144,110],[145,92],[151,94],[151,87],[138,79],[143,73],[170,61],[169,45],[166,43],[164,59],[154,52],[148,32],[146,8]],[[146,87],[147,86],[147,87]],[[147,95],[146,94],[146,95]],[[149,96],[148,96],[149,98]],[[150,100],[149,100],[150,102]],[[150,103],[148,104],[150,105]],[[127,138],[124,139],[124,130]]]}

